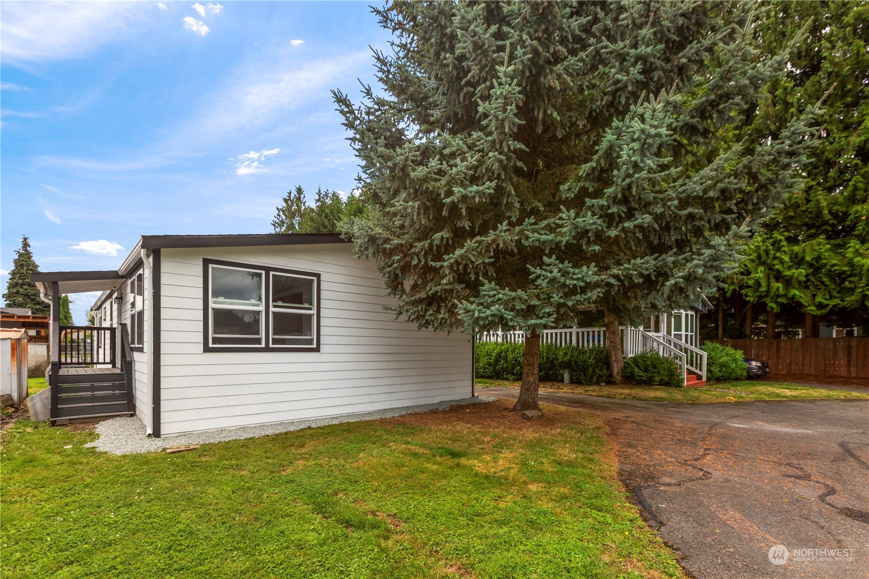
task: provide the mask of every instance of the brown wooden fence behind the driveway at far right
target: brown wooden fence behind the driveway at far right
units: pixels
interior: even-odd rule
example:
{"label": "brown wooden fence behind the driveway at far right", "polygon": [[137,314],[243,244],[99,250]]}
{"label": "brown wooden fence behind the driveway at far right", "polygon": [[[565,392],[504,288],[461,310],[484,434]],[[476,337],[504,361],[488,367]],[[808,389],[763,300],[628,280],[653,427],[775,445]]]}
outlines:
{"label": "brown wooden fence behind the driveway at far right", "polygon": [[869,337],[792,340],[704,340],[741,349],[747,358],[766,360],[770,374],[813,374],[869,378]]}

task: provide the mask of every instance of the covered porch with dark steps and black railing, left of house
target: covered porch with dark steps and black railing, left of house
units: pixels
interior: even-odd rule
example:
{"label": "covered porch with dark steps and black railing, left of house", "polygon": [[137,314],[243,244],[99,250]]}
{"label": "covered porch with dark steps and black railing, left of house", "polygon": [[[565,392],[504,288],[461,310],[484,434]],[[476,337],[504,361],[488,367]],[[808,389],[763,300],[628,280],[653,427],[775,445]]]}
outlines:
{"label": "covered porch with dark steps and black railing, left of house", "polygon": [[[123,277],[117,271],[53,271],[33,274],[30,280],[51,305],[50,366],[46,376],[51,422],[131,416],[135,411],[133,354],[126,324],[60,324],[63,294],[108,290],[120,296]],[[120,300],[116,306],[120,309]]]}

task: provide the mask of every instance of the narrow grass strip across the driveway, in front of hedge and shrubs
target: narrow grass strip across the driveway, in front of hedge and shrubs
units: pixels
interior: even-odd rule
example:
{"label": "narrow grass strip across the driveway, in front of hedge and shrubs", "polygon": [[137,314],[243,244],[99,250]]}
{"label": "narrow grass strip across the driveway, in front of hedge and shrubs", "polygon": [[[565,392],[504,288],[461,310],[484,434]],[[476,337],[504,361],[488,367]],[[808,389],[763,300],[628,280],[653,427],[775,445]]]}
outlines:
{"label": "narrow grass strip across the driveway, in front of hedge and shrubs", "polygon": [[[512,386],[520,383],[510,380],[477,378],[480,386]],[[706,388],[668,388],[666,386],[583,386],[560,382],[542,382],[541,389],[573,392],[607,398],[628,400],[655,400],[684,404],[733,403],[746,400],[866,400],[866,394],[850,390],[813,388],[786,382],[753,382],[748,380],[711,384]]]}

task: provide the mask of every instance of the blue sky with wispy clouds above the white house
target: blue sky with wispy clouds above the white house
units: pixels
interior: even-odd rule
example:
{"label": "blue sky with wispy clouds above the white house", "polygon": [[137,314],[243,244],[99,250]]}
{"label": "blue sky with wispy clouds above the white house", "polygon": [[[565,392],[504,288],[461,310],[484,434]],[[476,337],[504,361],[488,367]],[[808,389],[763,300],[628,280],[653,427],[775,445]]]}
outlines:
{"label": "blue sky with wispy clouds above the white house", "polygon": [[267,233],[295,185],[355,187],[329,90],[374,82],[368,3],[0,10],[3,289],[23,235],[43,271],[116,269],[141,235]]}

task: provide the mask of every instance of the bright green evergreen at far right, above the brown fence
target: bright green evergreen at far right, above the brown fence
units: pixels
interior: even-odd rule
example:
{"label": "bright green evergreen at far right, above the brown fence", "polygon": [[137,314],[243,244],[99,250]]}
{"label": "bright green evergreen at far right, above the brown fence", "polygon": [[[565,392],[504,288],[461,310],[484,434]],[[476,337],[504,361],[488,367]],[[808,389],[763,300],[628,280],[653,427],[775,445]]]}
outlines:
{"label": "bright green evergreen at far right, above the brown fence", "polygon": [[[824,100],[806,182],[746,246],[735,289],[773,315],[788,304],[846,326],[869,325],[869,4],[777,2],[758,28],[774,53],[807,26],[758,123],[784,126]],[[817,329],[809,328],[813,335]]]}

